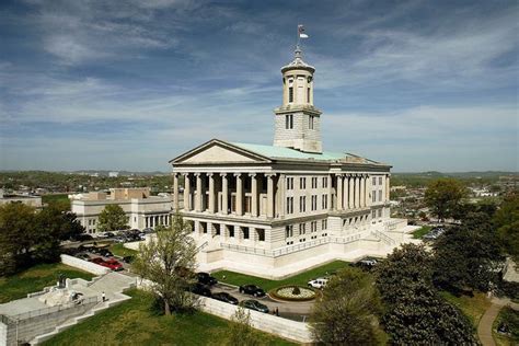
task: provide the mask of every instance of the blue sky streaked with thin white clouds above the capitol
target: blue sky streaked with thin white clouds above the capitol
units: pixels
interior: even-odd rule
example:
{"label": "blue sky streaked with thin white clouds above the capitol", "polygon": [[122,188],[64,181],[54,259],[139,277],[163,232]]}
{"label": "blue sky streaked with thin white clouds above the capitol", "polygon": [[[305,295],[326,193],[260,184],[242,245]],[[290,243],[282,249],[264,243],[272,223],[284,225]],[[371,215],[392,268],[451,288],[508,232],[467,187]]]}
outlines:
{"label": "blue sky streaked with thin white clouds above the capitol", "polygon": [[323,147],[394,172],[518,171],[511,1],[0,1],[0,170],[171,171],[272,145],[304,24]]}

